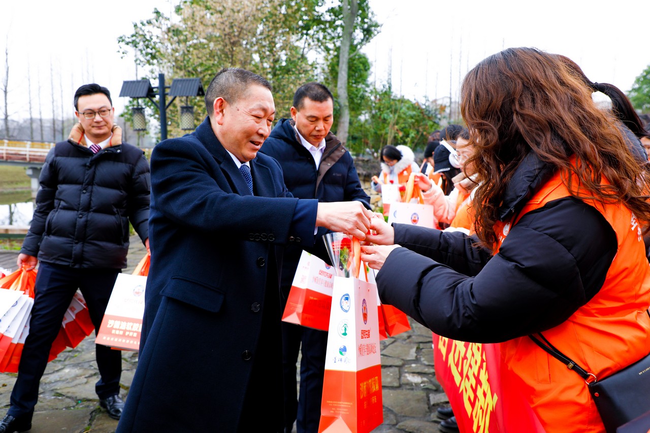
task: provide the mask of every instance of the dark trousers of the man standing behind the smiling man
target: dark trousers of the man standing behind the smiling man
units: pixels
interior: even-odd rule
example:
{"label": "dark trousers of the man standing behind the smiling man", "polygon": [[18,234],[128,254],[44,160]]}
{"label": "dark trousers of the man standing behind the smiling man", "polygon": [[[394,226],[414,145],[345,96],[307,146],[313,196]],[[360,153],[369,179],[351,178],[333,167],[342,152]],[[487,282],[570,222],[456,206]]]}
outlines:
{"label": "dark trousers of the man standing behind the smiling man", "polygon": [[[291,433],[294,421],[296,421],[298,433],[318,432],[327,335],[326,331],[282,322],[286,433]],[[300,393],[296,399],[298,350],[301,350],[302,358],[300,360]]]}

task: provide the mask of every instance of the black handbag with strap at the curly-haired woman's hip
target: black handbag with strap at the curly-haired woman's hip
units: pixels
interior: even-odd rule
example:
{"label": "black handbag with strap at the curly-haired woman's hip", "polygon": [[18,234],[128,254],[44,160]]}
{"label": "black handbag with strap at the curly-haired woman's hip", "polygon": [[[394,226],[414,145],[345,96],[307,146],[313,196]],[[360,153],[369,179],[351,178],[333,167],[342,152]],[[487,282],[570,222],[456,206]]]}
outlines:
{"label": "black handbag with strap at the curly-haired woman's hip", "polygon": [[[564,356],[541,334],[528,335],[546,352],[584,379],[607,433],[650,410],[650,354],[621,371],[599,379]],[[541,340],[543,340],[543,343]]]}

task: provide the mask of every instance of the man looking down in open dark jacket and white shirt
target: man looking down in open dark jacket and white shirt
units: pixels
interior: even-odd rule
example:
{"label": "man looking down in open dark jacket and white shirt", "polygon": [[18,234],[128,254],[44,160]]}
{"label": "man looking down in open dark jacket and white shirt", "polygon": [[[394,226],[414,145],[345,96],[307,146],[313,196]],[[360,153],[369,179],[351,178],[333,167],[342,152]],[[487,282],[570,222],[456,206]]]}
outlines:
{"label": "man looking down in open dark jacket and white shirt", "polygon": [[[278,122],[260,151],[278,160],[285,185],[294,197],[317,198],[318,202],[357,200],[370,209],[370,197],[361,188],[352,155],[330,133],[333,111],[333,97],[326,86],[301,86],[293,97],[291,119]],[[318,228],[317,238],[325,231]],[[283,303],[287,302],[301,252],[296,246],[287,246],[285,250],[281,275]],[[291,432],[296,413],[298,433],[318,430],[327,334],[282,323],[286,432]],[[296,361],[301,342],[300,399],[296,402]]]}

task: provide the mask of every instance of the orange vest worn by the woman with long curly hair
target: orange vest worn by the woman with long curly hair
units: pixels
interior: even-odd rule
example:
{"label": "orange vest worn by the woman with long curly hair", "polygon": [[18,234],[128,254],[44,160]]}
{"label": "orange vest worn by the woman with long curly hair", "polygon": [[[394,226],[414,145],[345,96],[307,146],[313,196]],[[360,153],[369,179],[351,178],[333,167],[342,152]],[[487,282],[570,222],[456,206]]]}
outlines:
{"label": "orange vest worn by the woman with long curly hair", "polygon": [[[516,220],[495,225],[497,248],[526,212],[569,195],[556,174],[526,203]],[[604,378],[650,352],[650,266],[641,228],[629,209],[619,203],[583,201],[595,207],[616,232],[617,254],[600,291],[569,319],[542,334],[588,373]],[[501,353],[521,387],[519,392],[548,432],[604,431],[587,385],[575,371],[528,337],[501,343]]]}

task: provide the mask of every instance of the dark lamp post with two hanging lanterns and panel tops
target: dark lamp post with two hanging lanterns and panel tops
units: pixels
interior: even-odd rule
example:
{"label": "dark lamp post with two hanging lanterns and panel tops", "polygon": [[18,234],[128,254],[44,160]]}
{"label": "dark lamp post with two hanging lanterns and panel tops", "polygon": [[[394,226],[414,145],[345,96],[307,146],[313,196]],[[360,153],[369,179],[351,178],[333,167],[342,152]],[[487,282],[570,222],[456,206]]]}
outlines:
{"label": "dark lamp post with two hanging lanterns and panel tops", "polygon": [[[169,89],[169,92],[167,92]],[[156,96],[155,90],[158,93],[158,101],[153,99]],[[155,88],[151,86],[148,79],[123,81],[120,96],[127,98],[147,98],[153,102],[160,114],[161,118],[161,141],[167,139],[167,109],[172,105],[177,96],[185,96],[185,106],[181,107],[181,127],[188,129],[188,117],[194,118],[194,107],[187,105],[187,98],[190,96],[203,96],[203,85],[198,78],[177,78],[172,81],[171,86],[165,86],[164,73],[158,74],[158,86]],[[166,96],[172,96],[169,103],[166,103]],[[142,107],[133,108],[133,129],[135,131],[144,131],[146,129],[144,109]],[[185,119],[185,120],[183,120]],[[193,125],[189,129],[194,129]]]}

